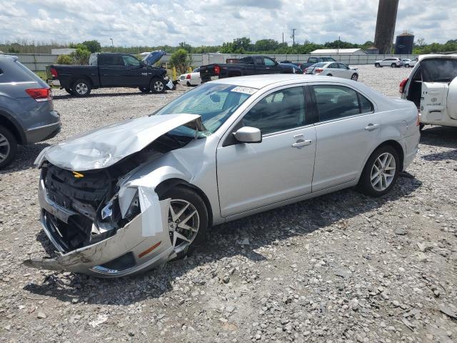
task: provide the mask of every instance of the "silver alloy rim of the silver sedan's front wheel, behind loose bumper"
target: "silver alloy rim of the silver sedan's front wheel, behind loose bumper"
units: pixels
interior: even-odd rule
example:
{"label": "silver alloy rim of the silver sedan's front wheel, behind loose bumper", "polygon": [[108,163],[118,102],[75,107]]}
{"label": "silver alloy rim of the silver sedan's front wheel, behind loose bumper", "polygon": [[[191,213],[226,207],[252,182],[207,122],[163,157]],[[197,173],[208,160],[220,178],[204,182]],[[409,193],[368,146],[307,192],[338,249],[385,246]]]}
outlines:
{"label": "silver alloy rim of the silver sedan's front wheel, behind loose bumper", "polygon": [[171,199],[169,207],[169,234],[174,252],[179,254],[194,242],[199,233],[200,217],[196,207],[182,199]]}

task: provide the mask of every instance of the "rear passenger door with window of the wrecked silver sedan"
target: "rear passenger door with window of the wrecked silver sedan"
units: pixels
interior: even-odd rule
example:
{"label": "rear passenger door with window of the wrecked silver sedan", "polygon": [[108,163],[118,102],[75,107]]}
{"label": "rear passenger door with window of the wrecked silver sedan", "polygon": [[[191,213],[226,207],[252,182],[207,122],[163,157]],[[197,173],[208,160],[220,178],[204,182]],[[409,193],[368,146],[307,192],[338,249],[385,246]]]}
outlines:
{"label": "rear passenger door with window of the wrecked silver sedan", "polygon": [[341,84],[311,86],[316,104],[313,192],[354,181],[381,139],[381,115],[366,96]]}

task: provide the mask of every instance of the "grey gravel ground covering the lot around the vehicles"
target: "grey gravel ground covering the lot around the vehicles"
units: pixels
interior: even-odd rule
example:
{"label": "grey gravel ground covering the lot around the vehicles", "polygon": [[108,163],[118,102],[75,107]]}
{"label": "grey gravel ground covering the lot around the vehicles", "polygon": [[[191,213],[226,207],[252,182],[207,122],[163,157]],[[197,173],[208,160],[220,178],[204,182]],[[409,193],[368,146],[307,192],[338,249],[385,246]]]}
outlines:
{"label": "grey gravel ground covering the lot around the vehicles", "polygon": [[[411,69],[360,66],[388,96]],[[44,252],[41,149],[183,93],[55,91],[63,129],[0,172],[1,342],[456,342],[457,129],[423,131],[409,174],[371,199],[348,189],[214,227],[194,256],[139,277],[28,269]]]}

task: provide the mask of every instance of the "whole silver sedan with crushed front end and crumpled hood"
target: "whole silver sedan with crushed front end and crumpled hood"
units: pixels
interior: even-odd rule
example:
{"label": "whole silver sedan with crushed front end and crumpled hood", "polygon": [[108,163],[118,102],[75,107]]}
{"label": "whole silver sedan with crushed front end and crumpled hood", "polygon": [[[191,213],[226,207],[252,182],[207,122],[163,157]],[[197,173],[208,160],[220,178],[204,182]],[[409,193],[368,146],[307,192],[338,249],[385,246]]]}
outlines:
{"label": "whole silver sedan with crushed front end and crumpled hood", "polygon": [[54,258],[119,277],[184,257],[209,227],[338,189],[389,192],[418,149],[417,109],[345,79],[208,82],[151,116],[46,148],[39,203]]}

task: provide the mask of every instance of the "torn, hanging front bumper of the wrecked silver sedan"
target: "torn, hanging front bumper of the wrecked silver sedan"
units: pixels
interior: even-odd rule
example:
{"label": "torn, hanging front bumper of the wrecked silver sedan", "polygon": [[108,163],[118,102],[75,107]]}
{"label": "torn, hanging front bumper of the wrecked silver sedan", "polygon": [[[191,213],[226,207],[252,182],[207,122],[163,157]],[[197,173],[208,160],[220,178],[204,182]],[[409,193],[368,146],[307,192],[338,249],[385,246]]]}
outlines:
{"label": "torn, hanging front bumper of the wrecked silver sedan", "polygon": [[138,187],[141,213],[106,239],[65,252],[62,235],[55,221],[71,224],[73,210],[49,199],[44,180],[39,184],[41,224],[56,248],[54,258],[31,257],[24,261],[29,267],[80,272],[96,277],[122,277],[158,267],[176,257],[169,237],[170,199],[159,201],[154,189]]}

